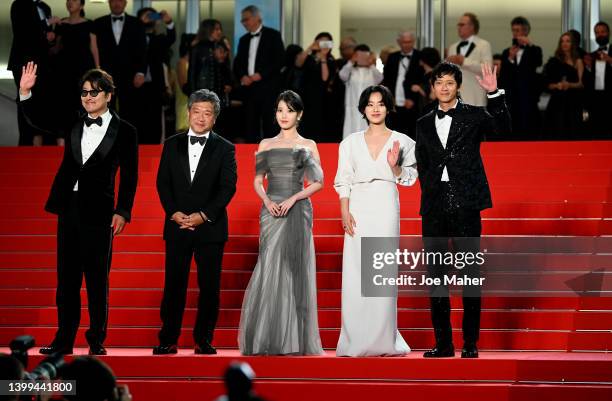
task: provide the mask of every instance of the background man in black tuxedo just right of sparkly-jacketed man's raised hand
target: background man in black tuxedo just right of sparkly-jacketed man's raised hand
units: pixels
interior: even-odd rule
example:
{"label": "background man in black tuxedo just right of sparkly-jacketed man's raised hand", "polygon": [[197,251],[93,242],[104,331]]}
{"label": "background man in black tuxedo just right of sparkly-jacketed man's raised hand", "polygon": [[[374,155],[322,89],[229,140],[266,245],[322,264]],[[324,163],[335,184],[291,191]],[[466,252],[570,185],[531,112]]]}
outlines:
{"label": "background man in black tuxedo just right of sparkly-jacketed man's raised hand", "polygon": [[516,139],[535,139],[540,134],[538,101],[542,81],[537,69],[542,65],[542,48],[529,39],[531,25],[525,17],[516,17],[512,27],[512,47],[502,53],[499,87],[506,91]]}

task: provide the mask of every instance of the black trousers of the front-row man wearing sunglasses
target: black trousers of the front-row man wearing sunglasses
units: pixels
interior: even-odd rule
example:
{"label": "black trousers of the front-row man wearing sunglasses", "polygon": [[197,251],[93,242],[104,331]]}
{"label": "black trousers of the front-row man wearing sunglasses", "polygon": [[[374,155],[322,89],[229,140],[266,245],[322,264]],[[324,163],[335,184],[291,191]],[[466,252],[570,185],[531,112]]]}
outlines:
{"label": "black trousers of the front-row man wearing sunglasses", "polygon": [[112,228],[83,221],[78,192],[57,224],[57,321],[54,345],[71,347],[81,320],[81,284],[85,276],[89,310],[90,345],[102,344],[108,324],[108,274],[112,254]]}

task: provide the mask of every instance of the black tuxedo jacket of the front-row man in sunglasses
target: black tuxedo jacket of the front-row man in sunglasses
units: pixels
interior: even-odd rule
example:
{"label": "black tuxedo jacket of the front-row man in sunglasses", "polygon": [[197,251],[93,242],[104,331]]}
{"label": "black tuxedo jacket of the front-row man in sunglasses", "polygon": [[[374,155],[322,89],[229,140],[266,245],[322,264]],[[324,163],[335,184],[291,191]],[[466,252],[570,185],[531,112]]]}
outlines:
{"label": "black tuxedo jacket of the front-row man in sunglasses", "polygon": [[[32,113],[32,99],[20,102],[26,117]],[[110,111],[112,119],[102,142],[83,164],[81,138],[83,117],[78,118],[66,137],[64,157],[59,167],[45,210],[62,215],[67,212],[76,182],[79,182],[79,213],[84,222],[110,225],[113,214],[132,218],[138,183],[138,137],[136,128]],[[119,193],[115,204],[115,177],[119,169]]]}

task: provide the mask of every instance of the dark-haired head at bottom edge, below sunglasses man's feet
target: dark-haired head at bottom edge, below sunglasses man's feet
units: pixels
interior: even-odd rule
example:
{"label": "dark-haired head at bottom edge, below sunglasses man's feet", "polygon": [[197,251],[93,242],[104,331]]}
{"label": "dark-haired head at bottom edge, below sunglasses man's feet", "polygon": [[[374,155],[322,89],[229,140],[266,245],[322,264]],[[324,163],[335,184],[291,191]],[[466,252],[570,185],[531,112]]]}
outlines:
{"label": "dark-haired head at bottom edge, below sunglasses man's feet", "polygon": [[117,381],[111,368],[99,359],[79,356],[62,371],[62,379],[76,380],[79,388],[76,395],[65,396],[75,401],[103,401],[117,399]]}

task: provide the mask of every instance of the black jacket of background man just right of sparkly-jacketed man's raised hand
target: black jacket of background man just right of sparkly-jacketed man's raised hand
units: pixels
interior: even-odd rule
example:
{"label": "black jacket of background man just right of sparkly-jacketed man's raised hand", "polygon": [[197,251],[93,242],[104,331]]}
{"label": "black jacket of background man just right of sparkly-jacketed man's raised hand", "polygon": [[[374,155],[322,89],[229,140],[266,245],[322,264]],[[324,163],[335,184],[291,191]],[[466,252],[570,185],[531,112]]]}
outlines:
{"label": "black jacket of background man just right of sparkly-jacketed man's raised hand", "polygon": [[543,83],[537,68],[542,65],[542,48],[526,46],[520,63],[508,59],[510,48],[502,53],[499,87],[506,90],[509,101],[517,106],[533,107],[540,99]]}

